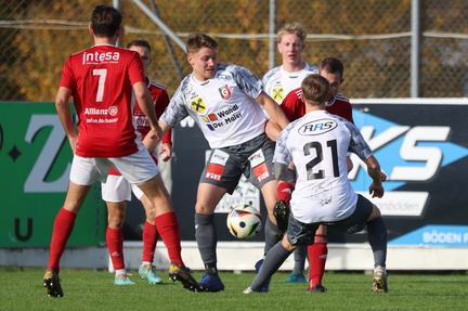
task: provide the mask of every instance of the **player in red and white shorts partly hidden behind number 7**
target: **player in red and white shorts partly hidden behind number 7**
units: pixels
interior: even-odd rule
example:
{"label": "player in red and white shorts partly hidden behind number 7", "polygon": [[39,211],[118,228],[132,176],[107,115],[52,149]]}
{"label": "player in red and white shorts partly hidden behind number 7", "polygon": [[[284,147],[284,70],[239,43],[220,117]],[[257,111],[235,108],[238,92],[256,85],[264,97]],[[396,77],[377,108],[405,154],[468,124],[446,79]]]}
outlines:
{"label": "player in red and white shorts partly hidden behind number 7", "polygon": [[[142,61],[146,75],[151,64],[151,46],[146,40],[133,40],[127,44],[127,49],[136,51]],[[147,76],[145,85],[150,90],[156,109],[156,116],[159,117],[169,104],[169,95],[166,87],[156,83]],[[133,118],[136,124],[136,130],[145,137],[151,130],[150,122],[145,114],[136,103],[133,111]],[[162,137],[159,154],[165,154],[162,160],[168,160],[172,155],[172,131],[169,130]],[[153,159],[158,164],[158,152],[152,153]],[[109,174],[105,182],[102,183],[102,197],[107,206],[107,230],[106,244],[109,251],[110,260],[115,269],[116,285],[132,285],[130,274],[125,269],[123,260],[123,235],[122,226],[125,222],[127,202],[131,200],[131,192],[140,199],[146,211],[146,221],[143,226],[143,258],[139,268],[140,277],[147,280],[150,284],[160,284],[162,278],[156,273],[153,265],[154,252],[158,238],[158,231],[155,224],[156,208],[143,192],[135,185],[131,185],[117,170],[110,168]]]}

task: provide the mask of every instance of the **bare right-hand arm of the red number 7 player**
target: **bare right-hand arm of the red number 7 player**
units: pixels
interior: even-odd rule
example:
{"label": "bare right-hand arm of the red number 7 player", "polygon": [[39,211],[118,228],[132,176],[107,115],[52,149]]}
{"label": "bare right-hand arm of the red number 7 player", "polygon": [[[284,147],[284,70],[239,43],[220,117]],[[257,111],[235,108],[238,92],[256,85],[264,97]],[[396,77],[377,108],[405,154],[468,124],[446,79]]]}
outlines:
{"label": "bare right-hand arm of the red number 7 player", "polygon": [[160,138],[162,137],[161,129],[158,126],[153,99],[143,81],[135,82],[133,85],[133,91],[140,108],[147,117],[151,126],[151,130],[144,138],[143,144],[148,150],[148,152],[153,152],[158,144]]}

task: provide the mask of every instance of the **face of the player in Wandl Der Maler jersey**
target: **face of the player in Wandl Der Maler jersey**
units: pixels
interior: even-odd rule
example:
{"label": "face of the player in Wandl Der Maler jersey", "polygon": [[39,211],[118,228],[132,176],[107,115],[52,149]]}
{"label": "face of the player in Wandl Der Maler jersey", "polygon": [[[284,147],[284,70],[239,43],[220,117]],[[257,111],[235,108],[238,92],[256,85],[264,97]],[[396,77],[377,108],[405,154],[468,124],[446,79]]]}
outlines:
{"label": "face of the player in Wandl Der Maler jersey", "polygon": [[218,62],[216,49],[202,48],[198,52],[188,54],[187,60],[197,80],[206,81],[214,77]]}

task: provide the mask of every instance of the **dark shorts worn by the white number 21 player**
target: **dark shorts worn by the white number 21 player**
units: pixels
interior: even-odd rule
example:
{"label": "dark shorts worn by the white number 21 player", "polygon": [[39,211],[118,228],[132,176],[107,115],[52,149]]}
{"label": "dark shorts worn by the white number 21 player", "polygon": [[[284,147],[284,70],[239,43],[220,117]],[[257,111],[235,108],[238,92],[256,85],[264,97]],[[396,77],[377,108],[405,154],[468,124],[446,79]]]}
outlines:
{"label": "dark shorts worn by the white number 21 player", "polygon": [[327,226],[335,226],[349,234],[356,233],[364,229],[372,211],[372,202],[358,194],[358,203],[354,212],[343,220],[334,222],[303,223],[294,218],[291,212],[286,234],[291,245],[312,245],[318,225],[325,224]]}

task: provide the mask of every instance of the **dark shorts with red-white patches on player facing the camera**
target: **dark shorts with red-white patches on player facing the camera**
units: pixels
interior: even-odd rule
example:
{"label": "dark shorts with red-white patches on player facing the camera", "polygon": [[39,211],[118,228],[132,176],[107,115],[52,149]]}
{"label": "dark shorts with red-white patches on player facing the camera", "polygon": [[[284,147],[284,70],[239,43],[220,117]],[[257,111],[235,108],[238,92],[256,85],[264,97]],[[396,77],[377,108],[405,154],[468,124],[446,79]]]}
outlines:
{"label": "dark shorts with red-white patches on player facing the camera", "polygon": [[261,134],[238,145],[212,150],[199,182],[218,185],[232,194],[244,174],[252,185],[261,189],[275,180],[274,148],[275,143]]}

